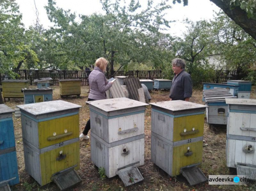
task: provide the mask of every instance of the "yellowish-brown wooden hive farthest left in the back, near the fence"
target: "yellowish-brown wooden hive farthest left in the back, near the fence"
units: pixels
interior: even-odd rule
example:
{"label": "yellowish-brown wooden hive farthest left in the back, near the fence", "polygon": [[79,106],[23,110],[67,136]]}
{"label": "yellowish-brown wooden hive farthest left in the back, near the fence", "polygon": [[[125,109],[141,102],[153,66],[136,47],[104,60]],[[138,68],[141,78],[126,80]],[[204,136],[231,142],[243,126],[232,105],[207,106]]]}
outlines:
{"label": "yellowish-brown wooden hive farthest left in the back, near the fence", "polygon": [[28,88],[29,80],[4,80],[1,82],[3,86],[3,99],[5,98],[23,98],[22,88]]}

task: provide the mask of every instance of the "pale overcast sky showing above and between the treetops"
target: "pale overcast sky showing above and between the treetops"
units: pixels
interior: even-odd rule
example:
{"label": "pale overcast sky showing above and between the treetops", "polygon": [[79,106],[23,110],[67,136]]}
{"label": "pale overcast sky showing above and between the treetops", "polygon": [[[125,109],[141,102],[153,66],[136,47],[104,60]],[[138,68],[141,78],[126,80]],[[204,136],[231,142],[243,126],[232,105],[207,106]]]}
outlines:
{"label": "pale overcast sky showing above and between the treetops", "polygon": [[[36,22],[36,9],[37,7],[39,13],[39,23],[43,25],[44,28],[49,28],[53,26],[48,20],[46,10],[44,8],[47,5],[47,0],[16,0],[19,5],[19,11],[23,15],[22,22],[25,28],[30,25],[34,25]],[[56,5],[63,10],[71,10],[75,12],[77,17],[78,14],[91,15],[93,13],[104,14],[102,6],[99,0],[55,0]],[[127,0],[129,2],[129,0]],[[154,2],[160,2],[160,0],[154,0]],[[143,7],[147,3],[147,0],[140,0]],[[176,20],[176,22],[171,23],[171,28],[167,31],[173,36],[182,36],[182,33],[186,31],[185,24],[182,21],[186,18],[198,21],[202,19],[213,19],[213,11],[218,12],[220,9],[210,0],[189,0],[188,6],[183,6],[181,3],[172,4],[172,0],[169,0],[172,5],[172,9],[169,10],[165,16],[168,20]]]}

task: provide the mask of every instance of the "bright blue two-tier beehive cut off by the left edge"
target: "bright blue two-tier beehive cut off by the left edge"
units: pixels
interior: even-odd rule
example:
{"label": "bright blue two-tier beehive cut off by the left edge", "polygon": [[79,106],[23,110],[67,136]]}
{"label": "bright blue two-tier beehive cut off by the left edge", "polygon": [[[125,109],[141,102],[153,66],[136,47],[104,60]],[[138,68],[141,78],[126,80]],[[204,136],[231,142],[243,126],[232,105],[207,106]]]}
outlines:
{"label": "bright blue two-tier beehive cut off by the left edge", "polygon": [[12,120],[13,109],[0,104],[0,182],[19,183],[18,164]]}

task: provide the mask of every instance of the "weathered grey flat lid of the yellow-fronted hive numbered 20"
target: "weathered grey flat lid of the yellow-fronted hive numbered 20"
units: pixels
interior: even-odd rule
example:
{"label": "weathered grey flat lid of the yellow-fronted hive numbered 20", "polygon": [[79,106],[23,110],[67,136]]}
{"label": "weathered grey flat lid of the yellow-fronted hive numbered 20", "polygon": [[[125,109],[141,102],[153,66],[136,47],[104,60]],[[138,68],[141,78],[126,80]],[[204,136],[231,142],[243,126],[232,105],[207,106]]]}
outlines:
{"label": "weathered grey flat lid of the yellow-fronted hive numbered 20", "polygon": [[18,108],[28,112],[31,115],[39,116],[54,112],[67,111],[71,109],[78,109],[82,106],[62,100],[32,103],[25,105],[17,105]]}

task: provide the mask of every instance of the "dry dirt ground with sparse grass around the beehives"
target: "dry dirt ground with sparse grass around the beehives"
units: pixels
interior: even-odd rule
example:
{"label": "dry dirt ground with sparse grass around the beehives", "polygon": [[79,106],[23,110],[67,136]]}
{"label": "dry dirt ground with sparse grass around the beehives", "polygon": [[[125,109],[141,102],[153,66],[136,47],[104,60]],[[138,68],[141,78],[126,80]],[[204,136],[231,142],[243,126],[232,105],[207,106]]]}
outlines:
{"label": "dry dirt ground with sparse grass around the beehives", "polygon": [[[33,87],[33,86],[31,86]],[[54,89],[53,100],[60,100],[59,87],[52,86]],[[88,99],[88,87],[81,87],[81,98],[69,97],[62,98],[62,100],[81,105],[80,108],[80,132],[89,119],[89,107],[85,105]],[[152,91],[151,102],[168,101],[168,91]],[[253,87],[251,98],[256,99],[256,88]],[[202,90],[193,90],[193,97],[191,102],[204,104],[202,102]],[[16,105],[24,104],[22,99],[11,99],[6,101],[5,104],[12,109],[15,109]],[[15,128],[15,140],[16,140],[16,151],[18,159],[18,170],[20,177],[20,184],[12,186],[12,190],[47,190],[54,191],[59,190],[54,183],[47,184],[40,187],[39,184],[25,171],[24,164],[24,153],[23,153],[23,142],[22,142],[22,128],[20,118],[14,118]],[[90,136],[90,134],[89,134]],[[226,167],[226,127],[213,127],[209,128],[209,125],[204,123],[204,136],[205,140],[203,144],[203,161],[201,170],[203,173],[208,175],[229,175],[229,168]],[[20,143],[17,143],[19,141]],[[190,187],[187,180],[182,176],[169,177],[167,173],[159,169],[151,158],[151,107],[147,106],[145,112],[145,164],[139,167],[139,170],[144,177],[144,180],[135,185],[124,187],[123,182],[118,176],[113,178],[100,178],[98,174],[98,168],[90,160],[90,139],[80,141],[80,164],[81,168],[77,171],[79,176],[82,178],[82,182],[69,190],[114,190],[114,191],[165,191],[165,190],[256,190],[256,183],[251,181],[246,186],[230,186],[230,185],[209,185],[203,183]]]}

